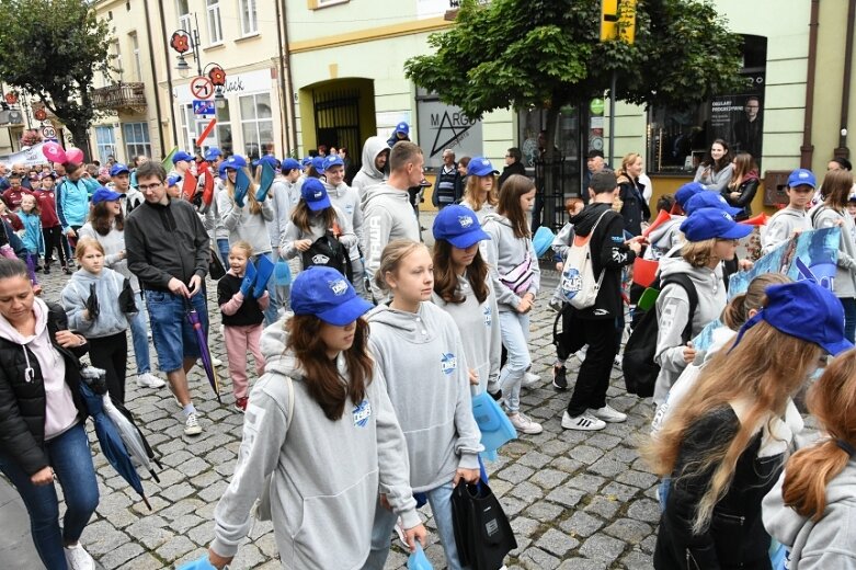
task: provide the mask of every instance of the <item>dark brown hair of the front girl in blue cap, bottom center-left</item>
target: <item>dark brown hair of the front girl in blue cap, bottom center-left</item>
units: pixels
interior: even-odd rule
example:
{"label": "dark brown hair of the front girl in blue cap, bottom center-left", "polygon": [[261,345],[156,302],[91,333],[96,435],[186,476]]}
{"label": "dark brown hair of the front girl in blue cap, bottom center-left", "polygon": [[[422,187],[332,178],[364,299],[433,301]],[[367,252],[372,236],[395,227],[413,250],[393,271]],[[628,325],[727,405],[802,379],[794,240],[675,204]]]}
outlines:
{"label": "dark brown hair of the front girl in blue cap, bottom center-left", "polygon": [[345,401],[351,398],[359,404],[372,384],[374,361],[368,355],[368,323],[362,317],[356,320],[354,343],[343,352],[351,381],[345,384],[336,369],[335,361],[327,357],[327,345],[321,340],[323,322],[315,315],[295,315],[285,323],[288,332],[286,347],[290,349],[306,375],[304,381],[309,396],[321,407],[331,421],[342,418]]}

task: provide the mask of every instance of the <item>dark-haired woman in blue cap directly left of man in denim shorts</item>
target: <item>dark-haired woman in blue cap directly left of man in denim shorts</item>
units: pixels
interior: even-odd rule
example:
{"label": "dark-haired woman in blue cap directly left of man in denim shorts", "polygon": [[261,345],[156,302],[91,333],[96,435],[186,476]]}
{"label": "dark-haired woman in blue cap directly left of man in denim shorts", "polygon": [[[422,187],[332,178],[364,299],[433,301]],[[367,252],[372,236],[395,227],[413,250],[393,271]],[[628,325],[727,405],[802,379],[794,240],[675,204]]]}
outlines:
{"label": "dark-haired woman in blue cap directly left of man in denim shorts", "polygon": [[139,281],[128,269],[125,251],[125,215],[122,213],[122,194],[100,187],[92,194],[92,209],[89,221],[80,228],[80,238],[91,238],[104,248],[104,266],[130,282],[134,298],[137,300],[137,314],[128,319],[130,338],[134,344],[134,358],[137,362],[137,387],[162,388],[164,381],[151,374],[149,354],[148,310],[141,303]]}

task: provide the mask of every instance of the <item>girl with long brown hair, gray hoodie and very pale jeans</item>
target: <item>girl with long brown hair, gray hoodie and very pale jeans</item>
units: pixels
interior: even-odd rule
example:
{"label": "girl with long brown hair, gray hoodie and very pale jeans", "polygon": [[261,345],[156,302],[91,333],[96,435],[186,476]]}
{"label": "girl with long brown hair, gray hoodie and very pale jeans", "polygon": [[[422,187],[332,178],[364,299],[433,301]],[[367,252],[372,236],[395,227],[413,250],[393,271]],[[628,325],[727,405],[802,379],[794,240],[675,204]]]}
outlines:
{"label": "girl with long brown hair, gray hoodie and very pale jeans", "polygon": [[512,174],[500,190],[497,212],[484,217],[490,241],[484,252],[500,312],[502,343],[509,362],[500,384],[509,419],[521,433],[538,434],[541,425],[521,413],[521,385],[532,368],[529,355],[529,311],[540,288],[538,254],[532,244],[527,219],[535,203],[535,184],[526,176]]}

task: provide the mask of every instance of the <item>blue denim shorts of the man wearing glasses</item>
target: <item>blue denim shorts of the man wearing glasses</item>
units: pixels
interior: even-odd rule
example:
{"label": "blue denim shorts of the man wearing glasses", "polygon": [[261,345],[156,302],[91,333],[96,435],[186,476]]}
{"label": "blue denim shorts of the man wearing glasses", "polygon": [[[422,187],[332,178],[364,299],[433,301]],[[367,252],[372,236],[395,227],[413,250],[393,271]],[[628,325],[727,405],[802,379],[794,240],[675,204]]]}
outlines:
{"label": "blue denim shorts of the man wearing glasses", "polygon": [[[191,297],[199,316],[202,330],[208,338],[208,309],[205,306],[205,287]],[[187,320],[184,297],[161,290],[147,290],[146,305],[151,319],[151,339],[158,353],[158,368],[170,373],[183,367],[184,358],[199,357],[196,332]]]}

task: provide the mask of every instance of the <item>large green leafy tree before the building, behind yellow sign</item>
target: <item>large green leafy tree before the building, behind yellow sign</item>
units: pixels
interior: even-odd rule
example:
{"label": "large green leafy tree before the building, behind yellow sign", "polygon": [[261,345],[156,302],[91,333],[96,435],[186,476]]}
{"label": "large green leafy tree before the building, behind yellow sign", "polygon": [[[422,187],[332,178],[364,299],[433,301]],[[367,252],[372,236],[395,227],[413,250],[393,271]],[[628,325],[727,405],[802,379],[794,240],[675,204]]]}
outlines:
{"label": "large green leafy tree before the building, behind yellow sign", "polygon": [[463,0],[406,73],[472,118],[547,109],[548,140],[559,109],[602,96],[613,71],[617,99],[638,104],[686,107],[744,84],[741,38],[708,2],[640,0],[632,45],[600,42],[600,0]]}

